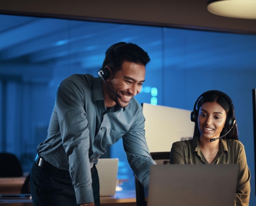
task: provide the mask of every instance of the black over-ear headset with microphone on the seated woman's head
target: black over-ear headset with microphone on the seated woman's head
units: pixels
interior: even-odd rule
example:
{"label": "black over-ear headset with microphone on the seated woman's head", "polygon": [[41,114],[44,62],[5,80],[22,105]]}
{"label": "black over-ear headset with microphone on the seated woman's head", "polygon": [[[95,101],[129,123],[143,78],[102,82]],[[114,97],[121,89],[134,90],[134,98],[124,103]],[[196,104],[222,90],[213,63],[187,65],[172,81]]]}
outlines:
{"label": "black over-ear headset with microphone on the seated woman's head", "polygon": [[234,118],[235,110],[234,110],[234,106],[233,106],[231,98],[227,94],[225,94],[221,91],[209,90],[209,91],[204,92],[203,94],[201,94],[198,97],[197,101],[195,101],[193,111],[191,112],[191,115],[190,115],[191,122],[194,122],[194,123],[198,122],[199,108],[197,109],[197,104],[203,96],[208,95],[210,93],[217,94],[217,95],[222,96],[223,98],[227,99],[227,101],[229,102],[229,104],[232,108],[231,109],[232,114],[227,115],[227,119],[225,121],[225,128],[228,128],[229,131],[227,133],[225,133],[224,135],[220,136],[219,138],[210,139],[210,142],[213,142],[213,141],[215,141],[217,139],[220,139],[220,138],[223,138],[223,136],[227,135],[232,130],[232,128],[234,127],[234,125],[236,123],[236,119]]}

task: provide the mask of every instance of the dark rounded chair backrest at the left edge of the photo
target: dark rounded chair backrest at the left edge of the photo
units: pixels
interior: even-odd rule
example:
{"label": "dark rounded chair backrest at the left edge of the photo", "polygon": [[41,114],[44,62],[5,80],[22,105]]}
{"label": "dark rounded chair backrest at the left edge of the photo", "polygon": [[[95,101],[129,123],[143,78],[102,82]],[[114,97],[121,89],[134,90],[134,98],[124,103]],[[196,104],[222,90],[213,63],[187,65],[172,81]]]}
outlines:
{"label": "dark rounded chair backrest at the left edge of the photo", "polygon": [[0,177],[21,177],[23,170],[19,159],[11,153],[0,153]]}

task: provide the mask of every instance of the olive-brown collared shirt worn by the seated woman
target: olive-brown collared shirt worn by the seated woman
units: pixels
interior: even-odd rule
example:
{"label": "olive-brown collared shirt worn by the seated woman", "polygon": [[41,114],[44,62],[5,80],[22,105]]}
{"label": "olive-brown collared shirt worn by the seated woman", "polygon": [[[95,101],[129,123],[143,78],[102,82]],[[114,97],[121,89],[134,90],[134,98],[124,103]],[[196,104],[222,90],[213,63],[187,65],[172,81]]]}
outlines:
{"label": "olive-brown collared shirt worn by the seated woman", "polygon": [[[199,147],[199,138],[175,142],[172,145],[171,164],[209,164]],[[237,164],[238,178],[235,205],[247,205],[250,198],[250,170],[244,145],[238,140],[220,139],[219,151],[212,164]]]}

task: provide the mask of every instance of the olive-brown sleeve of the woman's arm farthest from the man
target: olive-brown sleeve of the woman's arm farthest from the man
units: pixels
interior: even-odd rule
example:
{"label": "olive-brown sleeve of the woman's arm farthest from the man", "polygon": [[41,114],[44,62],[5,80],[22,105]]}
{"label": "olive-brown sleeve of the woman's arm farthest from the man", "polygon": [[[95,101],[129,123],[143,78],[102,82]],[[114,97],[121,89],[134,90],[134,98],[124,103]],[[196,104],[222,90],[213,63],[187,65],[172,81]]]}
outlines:
{"label": "olive-brown sleeve of the woman's arm farthest from the man", "polygon": [[245,148],[242,146],[240,148],[239,157],[237,164],[238,169],[238,179],[236,185],[236,195],[235,195],[235,205],[246,205],[249,204],[250,198],[250,170],[247,165]]}

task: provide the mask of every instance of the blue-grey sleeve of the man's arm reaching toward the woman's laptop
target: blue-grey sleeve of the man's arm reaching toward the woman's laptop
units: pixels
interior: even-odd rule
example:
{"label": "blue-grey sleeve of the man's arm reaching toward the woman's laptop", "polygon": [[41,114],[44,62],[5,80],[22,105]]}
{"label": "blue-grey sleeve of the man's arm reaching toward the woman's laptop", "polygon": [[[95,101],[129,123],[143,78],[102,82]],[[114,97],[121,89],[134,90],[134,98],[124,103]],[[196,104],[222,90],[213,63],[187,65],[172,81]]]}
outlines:
{"label": "blue-grey sleeve of the man's arm reaching toward the woman's laptop", "polygon": [[156,162],[150,156],[147,147],[144,123],[142,109],[139,109],[132,126],[123,136],[123,144],[130,167],[139,181],[148,188],[150,166]]}

